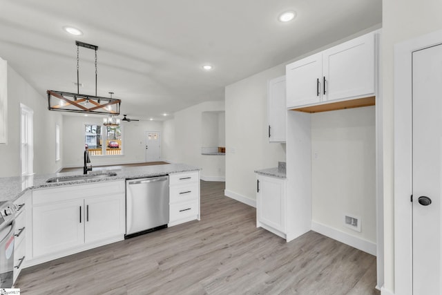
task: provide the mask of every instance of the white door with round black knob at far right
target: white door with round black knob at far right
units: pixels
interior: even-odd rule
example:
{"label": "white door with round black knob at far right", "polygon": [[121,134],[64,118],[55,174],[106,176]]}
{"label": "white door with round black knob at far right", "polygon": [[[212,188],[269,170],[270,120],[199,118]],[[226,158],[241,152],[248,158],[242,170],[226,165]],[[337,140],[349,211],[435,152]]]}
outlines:
{"label": "white door with round black knob at far right", "polygon": [[412,66],[413,294],[440,295],[442,45],[414,52]]}

